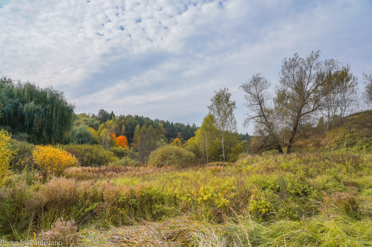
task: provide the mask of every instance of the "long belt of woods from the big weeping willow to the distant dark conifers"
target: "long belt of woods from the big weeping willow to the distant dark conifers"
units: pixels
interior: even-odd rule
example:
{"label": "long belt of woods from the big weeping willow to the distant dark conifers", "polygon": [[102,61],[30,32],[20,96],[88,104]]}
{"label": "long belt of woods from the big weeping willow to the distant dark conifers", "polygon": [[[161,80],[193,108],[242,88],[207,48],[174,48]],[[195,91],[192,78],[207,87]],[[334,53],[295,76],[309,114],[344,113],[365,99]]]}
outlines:
{"label": "long belt of woods from the big weeping willow to the distant dark conifers", "polygon": [[74,108],[63,92],[51,86],[41,88],[31,82],[0,79],[0,129],[13,133],[14,139],[34,144],[94,144],[97,139],[90,135],[88,128],[98,131],[104,124],[116,136],[125,136],[129,144],[137,126],[152,126],[168,142],[175,138],[185,142],[197,129],[195,124],[190,126],[138,115],[116,116],[105,110],[100,110],[97,115],[76,115]]}

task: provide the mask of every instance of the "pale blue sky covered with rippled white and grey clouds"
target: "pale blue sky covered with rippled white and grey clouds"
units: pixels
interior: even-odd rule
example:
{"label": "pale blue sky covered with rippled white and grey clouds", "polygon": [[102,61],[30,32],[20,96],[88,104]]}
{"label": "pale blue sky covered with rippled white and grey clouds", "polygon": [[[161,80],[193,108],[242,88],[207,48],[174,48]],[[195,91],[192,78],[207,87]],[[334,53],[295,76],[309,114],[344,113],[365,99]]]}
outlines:
{"label": "pale blue sky covered with rippled white and grey clouds", "polygon": [[285,57],[321,50],[372,71],[372,1],[0,0],[0,77],[52,85],[76,113],[200,126],[215,91],[248,113],[239,86],[273,85]]}

